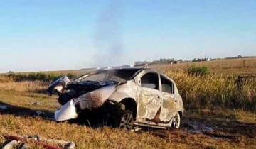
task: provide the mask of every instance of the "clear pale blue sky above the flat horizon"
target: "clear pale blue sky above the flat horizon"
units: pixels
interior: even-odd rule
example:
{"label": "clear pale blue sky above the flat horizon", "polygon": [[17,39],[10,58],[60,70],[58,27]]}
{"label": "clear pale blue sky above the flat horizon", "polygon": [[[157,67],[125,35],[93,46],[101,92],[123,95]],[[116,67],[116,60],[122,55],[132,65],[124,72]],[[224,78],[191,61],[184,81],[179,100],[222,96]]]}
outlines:
{"label": "clear pale blue sky above the flat horizon", "polygon": [[256,1],[0,1],[0,72],[201,55],[256,56]]}

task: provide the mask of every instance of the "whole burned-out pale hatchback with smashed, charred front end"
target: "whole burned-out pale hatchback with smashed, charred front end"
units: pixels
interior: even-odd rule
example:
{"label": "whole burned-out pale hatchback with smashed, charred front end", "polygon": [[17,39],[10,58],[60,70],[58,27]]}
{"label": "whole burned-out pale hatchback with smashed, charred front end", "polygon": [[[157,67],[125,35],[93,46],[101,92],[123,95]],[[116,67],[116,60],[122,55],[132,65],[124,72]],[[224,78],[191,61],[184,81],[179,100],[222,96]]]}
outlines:
{"label": "whole burned-out pale hatchback with smashed, charred front end", "polygon": [[183,101],[176,84],[147,68],[95,70],[70,81],[61,77],[48,88],[62,105],[55,121],[106,118],[113,126],[179,128]]}

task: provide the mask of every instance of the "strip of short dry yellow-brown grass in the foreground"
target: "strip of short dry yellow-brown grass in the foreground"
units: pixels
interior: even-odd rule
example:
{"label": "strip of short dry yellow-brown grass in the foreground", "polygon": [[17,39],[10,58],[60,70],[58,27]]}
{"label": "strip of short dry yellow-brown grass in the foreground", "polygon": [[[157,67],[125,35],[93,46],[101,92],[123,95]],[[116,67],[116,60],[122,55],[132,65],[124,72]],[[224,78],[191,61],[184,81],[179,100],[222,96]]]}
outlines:
{"label": "strip of short dry yellow-brown grass in the foreground", "polygon": [[[255,148],[254,140],[240,137],[238,142],[214,139],[186,131],[124,132],[114,128],[87,128],[70,123],[55,123],[41,118],[0,116],[1,136],[38,135],[44,138],[73,140],[78,148]],[[160,131],[161,132],[161,131]],[[3,141],[3,138],[0,138]]]}

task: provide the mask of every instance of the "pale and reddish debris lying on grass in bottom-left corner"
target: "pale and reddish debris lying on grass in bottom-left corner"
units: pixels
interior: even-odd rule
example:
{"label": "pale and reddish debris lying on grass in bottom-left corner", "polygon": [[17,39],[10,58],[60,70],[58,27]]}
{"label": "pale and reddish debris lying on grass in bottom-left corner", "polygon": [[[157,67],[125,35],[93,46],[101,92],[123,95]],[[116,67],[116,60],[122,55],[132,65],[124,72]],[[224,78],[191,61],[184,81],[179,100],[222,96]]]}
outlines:
{"label": "pale and reddish debris lying on grass in bottom-left corner", "polygon": [[20,136],[4,136],[8,140],[3,149],[28,148],[29,144],[38,145],[47,149],[75,149],[75,143],[71,141],[46,139],[38,136],[20,137]]}

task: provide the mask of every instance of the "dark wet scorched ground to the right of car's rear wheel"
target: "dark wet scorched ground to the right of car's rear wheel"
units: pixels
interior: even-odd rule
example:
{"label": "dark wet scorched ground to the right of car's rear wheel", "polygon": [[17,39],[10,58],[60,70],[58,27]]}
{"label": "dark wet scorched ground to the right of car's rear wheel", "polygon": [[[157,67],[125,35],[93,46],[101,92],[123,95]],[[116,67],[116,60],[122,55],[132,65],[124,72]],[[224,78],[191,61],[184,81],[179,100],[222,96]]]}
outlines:
{"label": "dark wet scorched ground to the right of car's rear wheel", "polygon": [[[216,117],[213,117],[213,116]],[[219,116],[218,116],[219,115]],[[178,136],[176,142],[180,143],[184,139],[186,143],[194,140],[191,146],[196,143],[198,147],[206,148],[201,139],[213,141],[214,148],[223,148],[223,143],[233,144],[233,148],[256,148],[256,123],[240,122],[235,115],[227,117],[220,114],[201,114],[196,116],[184,116],[181,129],[171,131],[152,130],[155,136],[168,138]],[[247,141],[244,141],[247,140]]]}

